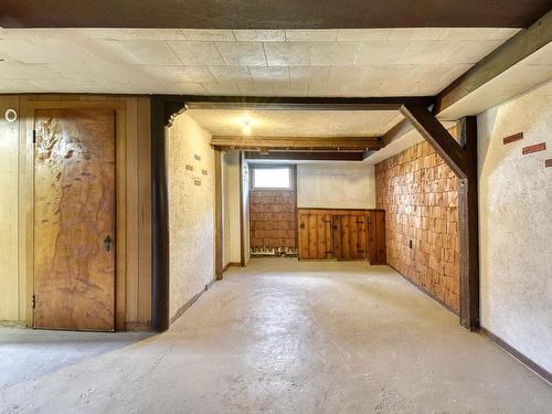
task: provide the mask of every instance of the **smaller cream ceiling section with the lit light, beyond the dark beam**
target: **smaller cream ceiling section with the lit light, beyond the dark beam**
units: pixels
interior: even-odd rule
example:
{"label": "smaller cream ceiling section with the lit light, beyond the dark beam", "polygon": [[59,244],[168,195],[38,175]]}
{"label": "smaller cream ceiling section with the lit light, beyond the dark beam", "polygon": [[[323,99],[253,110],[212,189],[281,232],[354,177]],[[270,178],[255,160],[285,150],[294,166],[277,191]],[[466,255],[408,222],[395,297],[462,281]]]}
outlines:
{"label": "smaller cream ceiling section with the lit light, beyond the dark beam", "polygon": [[244,136],[247,119],[251,136],[381,137],[403,119],[396,110],[190,109],[185,114],[219,136]]}

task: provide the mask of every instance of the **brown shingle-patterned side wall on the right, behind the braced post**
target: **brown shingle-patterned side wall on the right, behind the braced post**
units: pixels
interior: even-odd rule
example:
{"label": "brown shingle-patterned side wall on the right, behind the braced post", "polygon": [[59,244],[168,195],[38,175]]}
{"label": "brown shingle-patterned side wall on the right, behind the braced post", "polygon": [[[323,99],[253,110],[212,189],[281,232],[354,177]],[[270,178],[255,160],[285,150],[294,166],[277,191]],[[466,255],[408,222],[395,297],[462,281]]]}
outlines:
{"label": "brown shingle-patterned side wall on the right, behind the braced post", "polygon": [[458,312],[456,176],[424,141],[375,166],[375,194],[388,264]]}

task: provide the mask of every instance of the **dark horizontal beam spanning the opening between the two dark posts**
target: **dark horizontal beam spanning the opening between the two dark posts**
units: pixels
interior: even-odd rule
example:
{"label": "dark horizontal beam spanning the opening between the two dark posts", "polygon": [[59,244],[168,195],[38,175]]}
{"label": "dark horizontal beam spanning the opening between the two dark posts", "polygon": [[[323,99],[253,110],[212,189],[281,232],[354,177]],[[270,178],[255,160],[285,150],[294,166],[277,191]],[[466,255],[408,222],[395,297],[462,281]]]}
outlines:
{"label": "dark horizontal beam spanning the opening between the two dark posts", "polygon": [[188,109],[274,109],[274,110],[399,110],[402,105],[429,106],[433,96],[392,97],[266,97],[266,96],[180,96]]}

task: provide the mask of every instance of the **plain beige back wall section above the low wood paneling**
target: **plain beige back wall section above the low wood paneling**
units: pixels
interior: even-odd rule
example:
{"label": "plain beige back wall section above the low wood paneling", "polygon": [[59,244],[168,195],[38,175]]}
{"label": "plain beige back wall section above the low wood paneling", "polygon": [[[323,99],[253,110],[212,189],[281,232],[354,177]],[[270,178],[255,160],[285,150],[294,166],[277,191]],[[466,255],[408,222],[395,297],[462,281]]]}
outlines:
{"label": "plain beige back wall section above the low wood paneling", "polygon": [[299,208],[375,208],[374,167],[323,162],[297,166]]}

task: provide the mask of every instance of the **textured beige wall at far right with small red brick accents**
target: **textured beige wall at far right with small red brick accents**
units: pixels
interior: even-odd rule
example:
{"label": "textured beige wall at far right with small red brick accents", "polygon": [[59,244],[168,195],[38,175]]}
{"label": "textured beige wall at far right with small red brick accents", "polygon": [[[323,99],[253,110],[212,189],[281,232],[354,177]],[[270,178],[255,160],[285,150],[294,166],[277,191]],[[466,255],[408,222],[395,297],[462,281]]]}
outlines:
{"label": "textured beige wall at far right with small red brick accents", "polygon": [[[478,124],[481,325],[552,371],[552,83]],[[521,153],[539,142],[548,149]]]}

